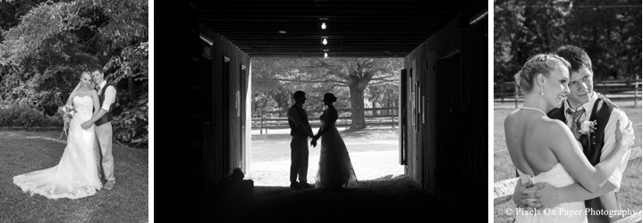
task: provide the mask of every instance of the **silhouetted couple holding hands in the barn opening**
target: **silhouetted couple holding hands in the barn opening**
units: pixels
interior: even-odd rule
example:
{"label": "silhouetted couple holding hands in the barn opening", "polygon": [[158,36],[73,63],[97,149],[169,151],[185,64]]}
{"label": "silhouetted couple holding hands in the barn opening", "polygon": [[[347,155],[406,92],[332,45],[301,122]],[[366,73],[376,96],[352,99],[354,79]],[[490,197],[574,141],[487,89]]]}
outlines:
{"label": "silhouetted couple holding hands in the barn opening", "polygon": [[[327,109],[319,117],[321,127],[314,135],[310,128],[308,114],[303,109],[303,103],[306,103],[306,93],[297,91],[292,95],[295,104],[288,110],[288,124],[291,127],[291,188],[300,190],[303,188],[313,188],[307,182],[309,167],[309,144],[308,138],[311,137],[310,145],[317,146],[317,139],[324,136],[321,142],[321,151],[319,155],[319,170],[317,172],[317,188],[328,190],[339,190],[342,186],[348,186],[349,183],[357,181],[355,171],[352,169],[351,157],[348,154],[346,145],[343,143],[342,136],[335,128],[337,121],[337,110],[333,103],[337,101],[331,93],[324,95],[324,104]],[[297,175],[299,174],[299,183]]]}

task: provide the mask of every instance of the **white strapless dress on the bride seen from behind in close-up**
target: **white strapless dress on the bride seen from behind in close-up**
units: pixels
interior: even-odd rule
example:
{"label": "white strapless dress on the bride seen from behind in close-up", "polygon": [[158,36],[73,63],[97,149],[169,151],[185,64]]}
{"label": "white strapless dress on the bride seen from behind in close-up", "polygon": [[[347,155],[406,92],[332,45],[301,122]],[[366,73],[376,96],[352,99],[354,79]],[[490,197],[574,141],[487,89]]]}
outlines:
{"label": "white strapless dress on the bride seen from behind in close-up", "polygon": [[[569,172],[563,168],[561,163],[556,163],[552,169],[546,172],[541,172],[536,177],[531,177],[518,169],[520,180],[523,183],[528,181],[536,183],[546,182],[552,186],[563,187],[576,183],[574,178],[571,178]],[[515,222],[588,222],[585,212],[585,202],[563,202],[556,205],[554,208],[528,212],[516,211]]]}

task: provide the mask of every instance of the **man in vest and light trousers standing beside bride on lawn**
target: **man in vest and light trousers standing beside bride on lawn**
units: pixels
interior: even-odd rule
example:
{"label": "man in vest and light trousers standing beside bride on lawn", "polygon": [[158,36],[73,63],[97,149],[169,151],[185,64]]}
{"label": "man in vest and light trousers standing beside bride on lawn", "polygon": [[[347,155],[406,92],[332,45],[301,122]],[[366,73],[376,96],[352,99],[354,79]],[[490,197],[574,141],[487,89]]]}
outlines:
{"label": "man in vest and light trousers standing beside bride on lawn", "polygon": [[[116,184],[114,178],[114,157],[112,156],[112,111],[114,110],[114,102],[116,98],[116,88],[107,84],[103,69],[93,67],[91,70],[92,78],[97,84],[98,99],[100,100],[100,110],[91,117],[91,120],[83,122],[80,126],[82,128],[90,128],[96,124],[96,139],[95,149],[100,149],[102,161],[99,161],[103,168],[103,176],[106,179],[105,188],[111,190]],[[99,168],[100,169],[100,168]],[[100,170],[98,170],[100,174]]]}

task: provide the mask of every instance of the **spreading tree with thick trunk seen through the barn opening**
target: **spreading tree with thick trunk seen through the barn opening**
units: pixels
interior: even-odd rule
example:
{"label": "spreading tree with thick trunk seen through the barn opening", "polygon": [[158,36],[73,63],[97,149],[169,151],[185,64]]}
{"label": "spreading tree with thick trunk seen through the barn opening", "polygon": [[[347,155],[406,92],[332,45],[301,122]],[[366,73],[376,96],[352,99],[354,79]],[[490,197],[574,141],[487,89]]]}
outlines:
{"label": "spreading tree with thick trunk seen through the barn opening", "polygon": [[[284,92],[289,92],[289,99],[295,90],[303,90],[309,102],[321,102],[325,93],[335,92],[339,98],[335,103],[338,108],[342,108],[346,101],[342,96],[348,95],[346,102],[351,108],[351,129],[362,129],[366,128],[365,90],[369,85],[396,83],[400,70],[401,58],[255,58],[252,61],[252,83],[253,88],[259,91],[281,89],[272,92],[279,92],[282,97]],[[343,88],[348,88],[348,91]],[[273,98],[277,101],[276,97]],[[321,103],[308,103],[307,106],[309,110],[323,108]]]}

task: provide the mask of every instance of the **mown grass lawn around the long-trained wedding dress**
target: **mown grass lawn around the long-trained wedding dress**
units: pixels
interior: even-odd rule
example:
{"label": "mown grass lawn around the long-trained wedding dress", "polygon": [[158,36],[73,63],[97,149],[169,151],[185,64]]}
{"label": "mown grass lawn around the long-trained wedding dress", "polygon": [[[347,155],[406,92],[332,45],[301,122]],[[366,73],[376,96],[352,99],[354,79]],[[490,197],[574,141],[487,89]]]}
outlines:
{"label": "mown grass lawn around the long-trained wedding dress", "polygon": [[0,131],[0,222],[148,222],[145,149],[114,144],[112,190],[77,200],[22,193],[13,177],[58,164],[66,145],[59,136],[58,131]]}

